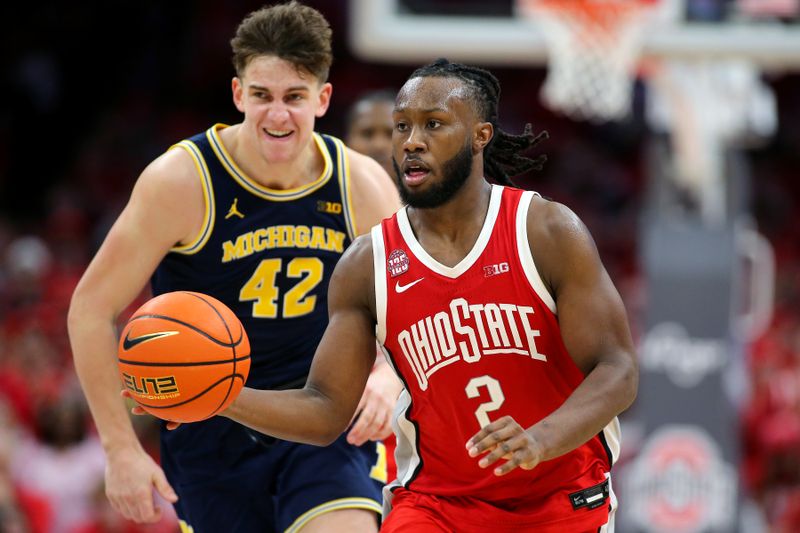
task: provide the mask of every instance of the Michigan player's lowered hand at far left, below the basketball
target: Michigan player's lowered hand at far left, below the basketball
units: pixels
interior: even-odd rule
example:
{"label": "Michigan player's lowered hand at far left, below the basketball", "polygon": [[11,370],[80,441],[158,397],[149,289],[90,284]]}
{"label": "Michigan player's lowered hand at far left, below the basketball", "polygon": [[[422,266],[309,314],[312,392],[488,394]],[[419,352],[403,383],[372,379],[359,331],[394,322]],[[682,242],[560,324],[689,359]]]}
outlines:
{"label": "Michigan player's lowered hand at far left, below the basketball", "polygon": [[109,452],[107,459],[106,496],[111,506],[128,520],[153,523],[161,519],[154,488],[168,502],[178,500],[164,471],[142,448]]}

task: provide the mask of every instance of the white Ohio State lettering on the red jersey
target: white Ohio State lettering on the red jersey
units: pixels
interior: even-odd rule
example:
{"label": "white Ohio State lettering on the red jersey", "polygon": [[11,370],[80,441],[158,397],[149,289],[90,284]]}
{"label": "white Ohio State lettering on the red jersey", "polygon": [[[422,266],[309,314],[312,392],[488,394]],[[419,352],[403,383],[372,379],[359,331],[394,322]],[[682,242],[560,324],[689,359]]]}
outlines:
{"label": "white Ohio State lettering on the red jersey", "polygon": [[498,354],[547,361],[547,356],[536,349],[540,332],[531,327],[528,315],[532,314],[532,307],[470,304],[456,298],[447,311],[426,316],[401,331],[397,342],[420,389],[426,390],[435,372],[456,361],[475,363],[481,357]]}

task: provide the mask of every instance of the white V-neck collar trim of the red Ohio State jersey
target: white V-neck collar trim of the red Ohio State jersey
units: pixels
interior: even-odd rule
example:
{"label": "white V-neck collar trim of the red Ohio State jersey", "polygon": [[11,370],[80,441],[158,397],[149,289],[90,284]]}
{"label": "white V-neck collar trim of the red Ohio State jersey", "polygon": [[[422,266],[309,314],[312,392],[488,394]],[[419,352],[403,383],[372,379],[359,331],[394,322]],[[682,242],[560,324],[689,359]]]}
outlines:
{"label": "white V-neck collar trim of the red Ohio State jersey", "polygon": [[503,187],[492,185],[492,192],[489,197],[489,209],[486,212],[486,220],[483,221],[481,232],[478,234],[478,238],[475,240],[475,244],[472,245],[472,249],[469,253],[465,255],[457,265],[452,267],[445,266],[431,257],[419,241],[417,241],[417,238],[414,236],[414,230],[411,229],[411,223],[408,221],[407,207],[397,212],[397,225],[400,228],[403,240],[406,241],[411,252],[417,256],[417,259],[419,259],[423,265],[442,276],[455,279],[475,264],[486,248],[486,245],[489,243],[489,237],[492,235],[494,223],[497,220],[497,214],[500,212],[500,200],[502,196]]}

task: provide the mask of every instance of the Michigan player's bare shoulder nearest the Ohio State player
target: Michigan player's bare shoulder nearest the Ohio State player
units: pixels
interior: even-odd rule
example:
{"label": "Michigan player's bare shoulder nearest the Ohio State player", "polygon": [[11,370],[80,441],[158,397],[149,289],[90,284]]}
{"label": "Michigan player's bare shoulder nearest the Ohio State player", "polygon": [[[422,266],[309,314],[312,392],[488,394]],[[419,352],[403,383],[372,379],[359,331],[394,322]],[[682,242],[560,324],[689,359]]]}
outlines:
{"label": "Michigan player's bare shoulder nearest the Ohio State player", "polygon": [[358,234],[363,234],[400,209],[400,195],[377,161],[351,148],[347,148],[347,157],[356,230]]}

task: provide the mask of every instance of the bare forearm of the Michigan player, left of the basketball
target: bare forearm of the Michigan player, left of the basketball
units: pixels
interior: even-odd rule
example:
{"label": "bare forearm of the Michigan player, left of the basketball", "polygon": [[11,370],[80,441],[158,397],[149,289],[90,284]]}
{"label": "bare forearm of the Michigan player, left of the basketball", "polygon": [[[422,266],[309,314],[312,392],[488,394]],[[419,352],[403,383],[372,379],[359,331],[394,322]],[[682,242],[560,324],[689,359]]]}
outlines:
{"label": "bare forearm of the Michigan player, left of the basketball", "polygon": [[75,361],[75,371],[89,403],[95,426],[107,454],[138,447],[125,402],[119,370],[113,354],[117,351],[116,332],[111,320],[98,318],[94,313],[73,305],[70,309],[69,337]]}

